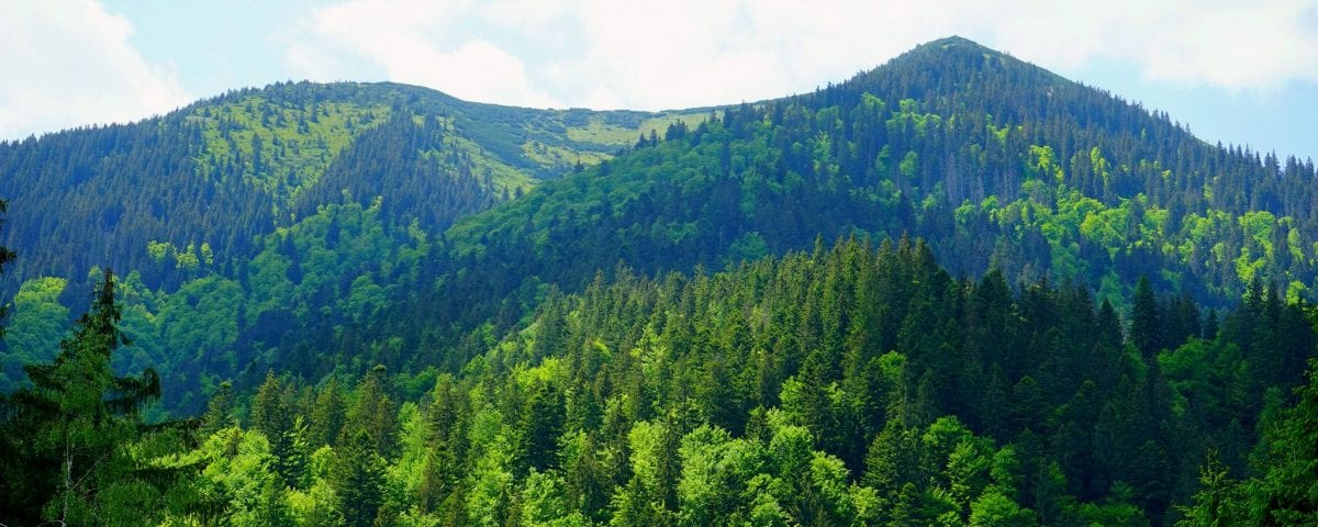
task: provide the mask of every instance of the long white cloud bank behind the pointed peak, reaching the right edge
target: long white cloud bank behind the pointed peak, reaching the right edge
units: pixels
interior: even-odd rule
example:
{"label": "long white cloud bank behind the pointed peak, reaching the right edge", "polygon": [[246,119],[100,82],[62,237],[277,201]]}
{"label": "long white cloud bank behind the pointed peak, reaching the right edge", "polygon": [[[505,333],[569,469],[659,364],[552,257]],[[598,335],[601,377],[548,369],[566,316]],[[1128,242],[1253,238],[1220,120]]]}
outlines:
{"label": "long white cloud bank behind the pointed peak, reaching the right edge", "polygon": [[1311,0],[351,0],[306,18],[287,58],[326,79],[355,54],[472,100],[659,109],[809,91],[949,34],[1062,72],[1107,59],[1268,90],[1318,80],[1315,25]]}

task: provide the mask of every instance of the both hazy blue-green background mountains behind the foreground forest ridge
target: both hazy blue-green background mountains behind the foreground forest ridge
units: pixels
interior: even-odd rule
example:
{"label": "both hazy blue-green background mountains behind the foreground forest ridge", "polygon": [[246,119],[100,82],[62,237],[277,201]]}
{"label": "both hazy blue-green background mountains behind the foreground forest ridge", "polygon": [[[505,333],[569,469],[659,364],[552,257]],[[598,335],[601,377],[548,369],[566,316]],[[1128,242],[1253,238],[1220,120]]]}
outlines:
{"label": "both hazy blue-green background mountains behind the foreground forest ridge", "polygon": [[[175,121],[191,134],[165,133]],[[170,401],[191,404],[270,366],[457,370],[555,289],[579,291],[619,262],[720,269],[851,236],[921,237],[953,275],[1075,282],[1119,308],[1140,277],[1210,307],[1255,282],[1315,286],[1311,163],[1206,145],[1165,115],[960,38],[813,94],[712,111],[530,111],[395,84],[291,84],[4,149],[0,163],[29,167],[42,190],[0,191],[16,192],[7,233],[32,252],[24,277],[71,278],[61,291],[76,307],[79,266],[137,271],[137,361],[173,365]],[[96,170],[76,170],[96,155]],[[600,162],[577,173],[572,155]],[[150,166],[132,159],[173,175],[127,174]],[[555,167],[573,174],[461,219]],[[21,221],[24,209],[42,221]],[[61,296],[37,286],[24,296],[33,312]],[[206,316],[187,316],[199,306]]]}

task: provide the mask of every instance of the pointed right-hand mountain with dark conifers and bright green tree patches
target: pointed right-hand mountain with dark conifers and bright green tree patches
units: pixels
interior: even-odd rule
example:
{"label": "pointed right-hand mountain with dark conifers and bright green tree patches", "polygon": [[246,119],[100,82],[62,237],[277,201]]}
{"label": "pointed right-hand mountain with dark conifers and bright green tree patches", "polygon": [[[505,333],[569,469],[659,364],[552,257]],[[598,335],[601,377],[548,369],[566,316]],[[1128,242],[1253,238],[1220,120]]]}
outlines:
{"label": "pointed right-hand mountain with dark conifers and bright green tree patches", "polygon": [[957,274],[1077,281],[1114,300],[1147,275],[1224,306],[1255,278],[1314,287],[1313,179],[1311,163],[1206,145],[1165,115],[952,38],[729,108],[449,237],[478,262],[455,269],[525,262],[502,275],[576,289],[618,260],[720,266],[816,236],[909,233]]}

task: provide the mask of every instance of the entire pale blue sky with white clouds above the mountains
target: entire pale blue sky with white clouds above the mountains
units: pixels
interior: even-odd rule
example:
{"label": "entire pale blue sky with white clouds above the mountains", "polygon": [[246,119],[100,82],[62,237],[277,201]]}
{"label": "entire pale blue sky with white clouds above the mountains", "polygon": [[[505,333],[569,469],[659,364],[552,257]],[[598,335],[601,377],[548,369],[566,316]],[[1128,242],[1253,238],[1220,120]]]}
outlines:
{"label": "entire pale blue sky with white clouds above the mountains", "polygon": [[1206,141],[1318,159],[1318,0],[0,0],[0,140],[302,79],[542,108],[731,104],[953,34]]}

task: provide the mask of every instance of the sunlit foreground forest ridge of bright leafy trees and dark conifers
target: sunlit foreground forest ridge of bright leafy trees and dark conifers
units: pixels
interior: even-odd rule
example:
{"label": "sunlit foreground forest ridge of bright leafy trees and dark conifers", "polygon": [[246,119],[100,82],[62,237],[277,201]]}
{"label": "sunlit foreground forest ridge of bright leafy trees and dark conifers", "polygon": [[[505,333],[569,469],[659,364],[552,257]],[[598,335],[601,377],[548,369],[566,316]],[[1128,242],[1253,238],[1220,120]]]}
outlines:
{"label": "sunlit foreground forest ridge of bright leafy trees and dark conifers", "polygon": [[[1123,324],[1083,287],[958,281],[904,240],[616,274],[552,292],[457,374],[224,385],[192,447],[115,436],[128,457],[103,485],[137,490],[88,507],[349,526],[1147,526],[1193,522],[1213,493],[1251,514],[1310,510],[1310,465],[1290,453],[1307,452],[1313,389],[1286,394],[1318,337],[1276,292],[1220,321],[1136,299],[1151,306]],[[1219,480],[1199,485],[1201,465]],[[58,481],[20,466],[9,481]],[[153,491],[142,470],[170,484]]]}

